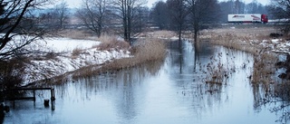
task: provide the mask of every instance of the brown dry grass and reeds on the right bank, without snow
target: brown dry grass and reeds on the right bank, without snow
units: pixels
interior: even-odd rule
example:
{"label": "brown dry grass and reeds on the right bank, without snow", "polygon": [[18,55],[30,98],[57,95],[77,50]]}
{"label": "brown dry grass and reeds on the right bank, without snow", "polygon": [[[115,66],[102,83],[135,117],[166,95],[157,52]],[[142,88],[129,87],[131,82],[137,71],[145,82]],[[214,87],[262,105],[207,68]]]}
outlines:
{"label": "brown dry grass and reeds on the right bank, without snow", "polygon": [[272,83],[275,72],[276,54],[267,52],[266,48],[259,45],[263,40],[270,40],[270,33],[276,33],[274,28],[248,27],[227,28],[204,31],[201,36],[203,40],[223,46],[251,52],[255,56],[253,74],[250,76],[253,83]]}

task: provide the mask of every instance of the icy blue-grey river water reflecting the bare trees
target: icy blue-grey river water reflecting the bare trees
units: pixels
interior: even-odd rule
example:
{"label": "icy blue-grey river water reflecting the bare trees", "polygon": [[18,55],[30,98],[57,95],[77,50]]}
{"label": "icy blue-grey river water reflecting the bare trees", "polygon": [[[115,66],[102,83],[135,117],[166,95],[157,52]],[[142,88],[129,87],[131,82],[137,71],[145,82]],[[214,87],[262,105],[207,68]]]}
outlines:
{"label": "icy blue-grey river water reflecting the bare trees", "polygon": [[[164,62],[69,81],[54,86],[56,100],[15,101],[4,123],[18,124],[272,124],[278,118],[270,106],[256,107],[258,91],[249,75],[253,56],[247,52],[201,43],[197,49],[184,42],[169,43]],[[219,54],[219,55],[218,55]],[[219,56],[219,59],[214,59]],[[205,85],[208,62],[234,69],[227,84]],[[12,106],[12,102],[7,102]]]}

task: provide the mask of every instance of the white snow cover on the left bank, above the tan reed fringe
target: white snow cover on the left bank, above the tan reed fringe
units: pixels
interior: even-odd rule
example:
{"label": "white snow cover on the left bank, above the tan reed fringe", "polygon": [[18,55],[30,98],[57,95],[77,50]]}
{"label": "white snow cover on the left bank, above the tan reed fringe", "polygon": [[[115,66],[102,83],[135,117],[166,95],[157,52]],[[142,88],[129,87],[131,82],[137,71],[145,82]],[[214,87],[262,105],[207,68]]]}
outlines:
{"label": "white snow cover on the left bank, above the tan reed fringe", "polygon": [[[99,51],[95,46],[101,42],[96,41],[68,38],[47,38],[44,40],[45,42],[37,41],[43,51],[59,53],[53,59],[36,59],[27,64],[24,72],[24,85],[63,75],[66,72],[73,72],[85,66],[131,57],[128,50]],[[39,48],[35,47],[35,49]]]}

